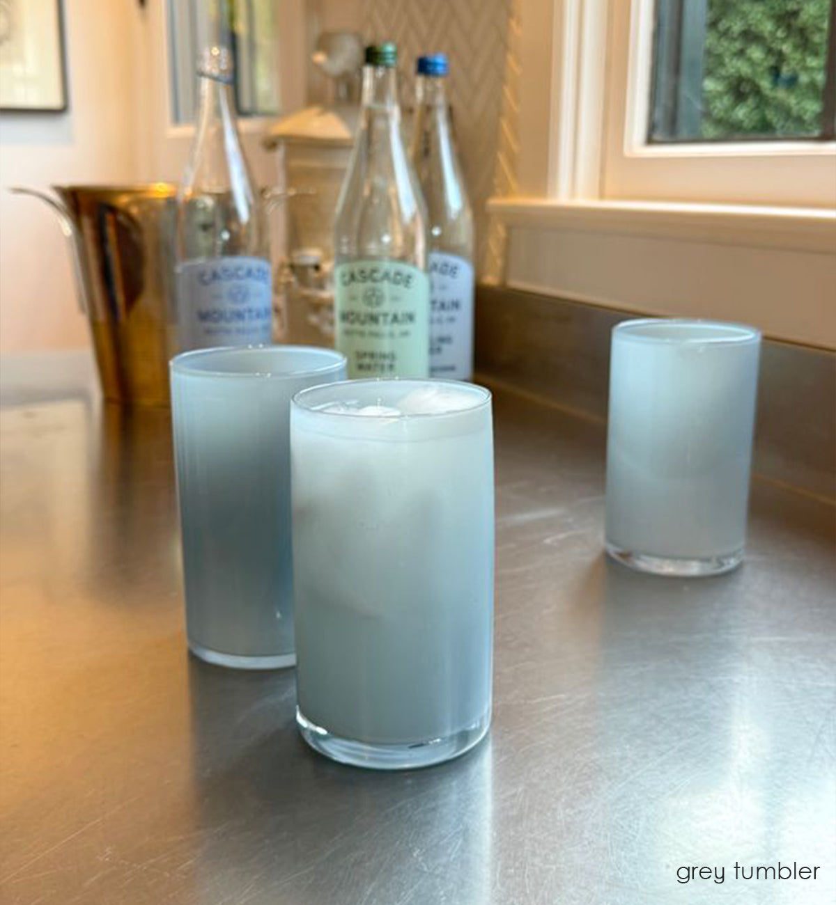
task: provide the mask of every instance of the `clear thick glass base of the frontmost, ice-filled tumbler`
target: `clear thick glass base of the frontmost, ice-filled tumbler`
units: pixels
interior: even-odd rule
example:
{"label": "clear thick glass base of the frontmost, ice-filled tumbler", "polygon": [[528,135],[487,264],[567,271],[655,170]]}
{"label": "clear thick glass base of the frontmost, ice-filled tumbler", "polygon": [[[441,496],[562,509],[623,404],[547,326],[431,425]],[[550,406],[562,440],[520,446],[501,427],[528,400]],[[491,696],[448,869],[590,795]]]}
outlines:
{"label": "clear thick glass base of the frontmost, ice-filled tumbler", "polygon": [[432,767],[460,757],[477,745],[491,725],[490,710],[473,726],[454,732],[446,738],[433,738],[409,745],[375,745],[356,738],[341,738],[307,719],[296,708],[296,725],[302,738],[314,749],[341,764],[368,767],[371,770],[411,770]]}

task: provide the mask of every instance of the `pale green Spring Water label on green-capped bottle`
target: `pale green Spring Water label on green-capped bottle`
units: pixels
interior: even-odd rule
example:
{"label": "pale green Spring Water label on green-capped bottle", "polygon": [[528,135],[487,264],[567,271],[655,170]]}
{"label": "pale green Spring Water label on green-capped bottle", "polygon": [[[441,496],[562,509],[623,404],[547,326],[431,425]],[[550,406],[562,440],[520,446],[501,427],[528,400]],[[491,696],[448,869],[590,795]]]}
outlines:
{"label": "pale green Spring Water label on green-capped bottle", "polygon": [[400,261],[334,268],[337,348],[349,376],[429,376],[429,279]]}

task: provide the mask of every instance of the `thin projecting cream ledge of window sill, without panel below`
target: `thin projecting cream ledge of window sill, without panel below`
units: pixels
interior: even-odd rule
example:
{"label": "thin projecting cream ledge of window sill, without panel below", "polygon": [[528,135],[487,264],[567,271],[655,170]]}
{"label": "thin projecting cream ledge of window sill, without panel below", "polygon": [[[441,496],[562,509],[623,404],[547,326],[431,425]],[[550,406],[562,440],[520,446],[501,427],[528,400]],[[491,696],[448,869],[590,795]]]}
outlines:
{"label": "thin projecting cream ledge of window sill, without panel below", "polygon": [[509,226],[836,252],[836,211],[822,208],[641,201],[558,203],[515,196],[491,198],[487,209]]}

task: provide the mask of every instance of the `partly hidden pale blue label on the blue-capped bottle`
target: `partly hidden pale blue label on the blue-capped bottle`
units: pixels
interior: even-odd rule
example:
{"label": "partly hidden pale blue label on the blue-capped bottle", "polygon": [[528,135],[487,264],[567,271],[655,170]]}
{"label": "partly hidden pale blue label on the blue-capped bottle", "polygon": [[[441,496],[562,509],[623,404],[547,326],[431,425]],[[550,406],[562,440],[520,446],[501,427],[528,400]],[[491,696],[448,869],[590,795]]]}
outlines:
{"label": "partly hidden pale blue label on the blue-capped bottle", "polygon": [[473,377],[473,264],[430,252],[429,369],[434,377]]}

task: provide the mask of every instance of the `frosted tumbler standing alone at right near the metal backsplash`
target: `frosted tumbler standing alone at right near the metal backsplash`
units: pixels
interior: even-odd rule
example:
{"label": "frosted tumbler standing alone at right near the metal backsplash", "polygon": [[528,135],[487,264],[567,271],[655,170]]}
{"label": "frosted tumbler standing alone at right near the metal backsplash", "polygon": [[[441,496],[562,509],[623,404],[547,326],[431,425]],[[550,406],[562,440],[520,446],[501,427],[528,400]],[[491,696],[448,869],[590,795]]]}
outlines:
{"label": "frosted tumbler standing alone at right near the metal backsplash", "polygon": [[761,335],[707,320],[612,331],[607,552],[661,575],[743,558]]}

